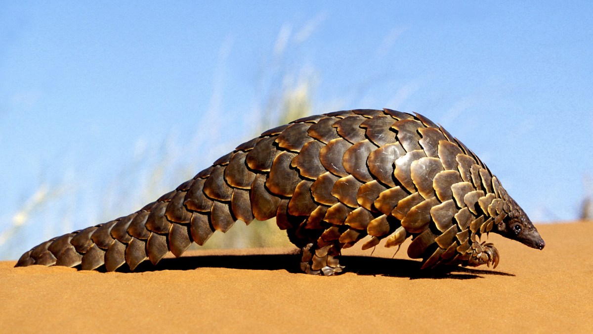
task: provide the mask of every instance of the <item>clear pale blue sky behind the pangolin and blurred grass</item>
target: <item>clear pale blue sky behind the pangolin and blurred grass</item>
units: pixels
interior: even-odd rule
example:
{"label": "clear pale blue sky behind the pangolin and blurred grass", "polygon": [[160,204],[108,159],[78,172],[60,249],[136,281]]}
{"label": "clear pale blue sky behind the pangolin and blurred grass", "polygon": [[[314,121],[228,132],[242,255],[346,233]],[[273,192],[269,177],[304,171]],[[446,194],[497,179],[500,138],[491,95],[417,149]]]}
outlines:
{"label": "clear pale blue sky behind the pangolin and blurred grass", "polygon": [[33,210],[18,247],[62,233],[44,224],[63,208],[68,228],[100,223],[104,185],[171,134],[197,173],[254,134],[275,67],[314,74],[315,114],[440,122],[538,222],[575,219],[592,192],[588,1],[2,1],[0,232],[44,183],[78,199]]}

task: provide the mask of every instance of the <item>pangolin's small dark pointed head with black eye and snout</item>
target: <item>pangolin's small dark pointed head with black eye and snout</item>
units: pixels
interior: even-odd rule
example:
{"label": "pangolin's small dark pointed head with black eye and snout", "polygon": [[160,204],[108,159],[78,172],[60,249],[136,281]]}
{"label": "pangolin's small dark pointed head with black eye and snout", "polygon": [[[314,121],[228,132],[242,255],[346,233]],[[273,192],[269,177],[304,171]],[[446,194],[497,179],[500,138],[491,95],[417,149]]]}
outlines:
{"label": "pangolin's small dark pointed head with black eye and snout", "polygon": [[506,218],[495,226],[493,232],[517,240],[531,248],[544,249],[546,242],[540,237],[527,214],[512,198],[508,197],[506,201],[509,204]]}

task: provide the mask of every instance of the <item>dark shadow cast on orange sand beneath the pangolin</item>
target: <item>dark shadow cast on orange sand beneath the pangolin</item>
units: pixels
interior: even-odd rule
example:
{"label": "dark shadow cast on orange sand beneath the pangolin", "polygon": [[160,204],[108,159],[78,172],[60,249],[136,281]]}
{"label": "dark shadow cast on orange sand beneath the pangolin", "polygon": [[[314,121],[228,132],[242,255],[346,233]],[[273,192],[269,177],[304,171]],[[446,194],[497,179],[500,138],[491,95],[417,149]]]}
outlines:
{"label": "dark shadow cast on orange sand beneath the pangolin", "polygon": [[[160,270],[192,270],[200,267],[218,267],[250,270],[286,270],[301,273],[298,254],[275,255],[224,255],[224,256],[187,256],[178,259],[163,259],[157,266],[145,261],[134,272],[153,272]],[[476,279],[484,275],[515,276],[495,270],[479,270],[461,266],[448,266],[437,270],[420,270],[420,261],[403,259],[385,259],[381,257],[342,256],[340,264],[346,272],[358,275],[381,275],[410,279]],[[129,272],[127,266],[118,272]],[[305,275],[305,274],[303,274]]]}

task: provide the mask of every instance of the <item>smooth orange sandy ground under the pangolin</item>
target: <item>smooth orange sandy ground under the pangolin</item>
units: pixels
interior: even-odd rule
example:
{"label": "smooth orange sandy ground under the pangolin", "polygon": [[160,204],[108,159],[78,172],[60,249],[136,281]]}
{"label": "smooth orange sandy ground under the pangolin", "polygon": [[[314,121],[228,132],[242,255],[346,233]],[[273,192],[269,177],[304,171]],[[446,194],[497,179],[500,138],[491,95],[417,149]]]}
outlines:
{"label": "smooth orange sandy ground under the pangolin", "polygon": [[490,235],[498,268],[438,275],[383,247],[345,251],[350,272],[329,278],[298,273],[286,248],[193,251],[134,273],[4,261],[0,332],[590,333],[593,222],[538,229],[543,251]]}

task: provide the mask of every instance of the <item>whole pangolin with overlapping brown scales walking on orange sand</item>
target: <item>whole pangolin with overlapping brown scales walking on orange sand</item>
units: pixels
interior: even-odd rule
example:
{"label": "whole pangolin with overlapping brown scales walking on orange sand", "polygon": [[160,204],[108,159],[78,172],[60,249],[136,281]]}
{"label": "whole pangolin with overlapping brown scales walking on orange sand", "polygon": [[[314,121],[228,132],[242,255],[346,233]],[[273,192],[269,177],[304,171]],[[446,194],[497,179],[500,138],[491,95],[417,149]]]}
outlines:
{"label": "whole pangolin with overlapping brown scales walking on orange sand", "polygon": [[400,246],[422,268],[499,263],[495,232],[542,249],[525,212],[461,141],[425,116],[391,109],[308,116],[262,133],[131,215],[43,242],[16,266],[108,272],[203,245],[237,220],[276,217],[301,248],[301,269],[343,272],[338,257]]}

